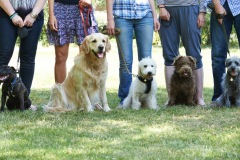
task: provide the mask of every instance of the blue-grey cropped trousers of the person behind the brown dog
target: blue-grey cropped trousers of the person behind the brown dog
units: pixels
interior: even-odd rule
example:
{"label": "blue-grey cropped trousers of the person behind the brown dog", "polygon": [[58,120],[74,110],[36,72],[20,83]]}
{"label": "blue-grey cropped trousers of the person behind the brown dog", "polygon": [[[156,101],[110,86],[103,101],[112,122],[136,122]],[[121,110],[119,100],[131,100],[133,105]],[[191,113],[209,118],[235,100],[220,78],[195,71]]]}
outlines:
{"label": "blue-grey cropped trousers of the person behind the brown dog", "polygon": [[[197,60],[197,69],[202,68],[201,30],[197,26],[198,6],[166,7],[170,21],[160,20],[159,35],[166,66],[172,66],[179,54],[192,56]],[[186,53],[179,53],[180,39]]]}

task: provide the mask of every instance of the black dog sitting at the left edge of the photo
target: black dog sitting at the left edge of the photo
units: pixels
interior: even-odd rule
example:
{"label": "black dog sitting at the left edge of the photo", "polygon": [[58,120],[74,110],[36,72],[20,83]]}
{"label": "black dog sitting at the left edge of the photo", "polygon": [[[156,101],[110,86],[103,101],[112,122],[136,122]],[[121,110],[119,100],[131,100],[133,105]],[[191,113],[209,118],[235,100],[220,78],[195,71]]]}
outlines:
{"label": "black dog sitting at the left edge of the photo", "polygon": [[20,109],[21,111],[31,106],[27,88],[22,83],[21,78],[17,76],[14,67],[7,65],[0,66],[0,84],[1,83],[3,83],[1,111],[4,111],[5,104],[9,110]]}

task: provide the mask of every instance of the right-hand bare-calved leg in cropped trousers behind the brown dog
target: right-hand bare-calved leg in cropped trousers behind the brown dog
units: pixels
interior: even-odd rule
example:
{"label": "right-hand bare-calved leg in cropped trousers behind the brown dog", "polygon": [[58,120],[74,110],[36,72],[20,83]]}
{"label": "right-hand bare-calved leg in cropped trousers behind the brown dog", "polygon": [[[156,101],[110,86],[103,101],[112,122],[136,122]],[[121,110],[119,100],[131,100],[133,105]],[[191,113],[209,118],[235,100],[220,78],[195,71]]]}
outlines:
{"label": "right-hand bare-calved leg in cropped trousers behind the brown dog", "polygon": [[[199,7],[181,7],[179,16],[181,17],[180,32],[182,43],[186,50],[186,55],[196,59],[197,69],[194,71],[196,82],[196,103],[205,105],[203,99],[203,68],[201,56],[201,30],[197,26]],[[196,22],[196,23],[193,23]]]}

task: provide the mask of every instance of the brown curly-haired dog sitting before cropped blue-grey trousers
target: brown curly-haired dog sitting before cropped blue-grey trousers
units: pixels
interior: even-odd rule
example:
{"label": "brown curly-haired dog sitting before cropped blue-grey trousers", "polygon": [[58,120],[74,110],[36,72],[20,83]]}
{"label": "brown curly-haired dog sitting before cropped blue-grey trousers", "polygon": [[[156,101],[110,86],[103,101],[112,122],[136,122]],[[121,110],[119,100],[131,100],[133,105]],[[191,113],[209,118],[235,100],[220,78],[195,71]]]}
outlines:
{"label": "brown curly-haired dog sitting before cropped blue-grey trousers", "polygon": [[167,106],[195,105],[195,78],[196,60],[191,56],[178,56],[173,65],[174,73],[170,82],[170,97]]}

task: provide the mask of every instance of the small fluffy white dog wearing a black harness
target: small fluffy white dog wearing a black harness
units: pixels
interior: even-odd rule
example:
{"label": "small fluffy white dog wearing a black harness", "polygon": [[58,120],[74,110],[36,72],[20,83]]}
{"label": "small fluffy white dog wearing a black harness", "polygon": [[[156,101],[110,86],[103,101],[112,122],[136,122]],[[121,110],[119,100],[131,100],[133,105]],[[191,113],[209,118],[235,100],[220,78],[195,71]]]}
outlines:
{"label": "small fluffy white dog wearing a black harness", "polygon": [[139,110],[141,107],[158,109],[156,100],[157,82],[156,63],[153,59],[143,58],[138,64],[138,77],[132,82],[128,96],[124,99],[122,108]]}

